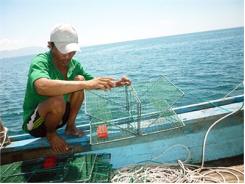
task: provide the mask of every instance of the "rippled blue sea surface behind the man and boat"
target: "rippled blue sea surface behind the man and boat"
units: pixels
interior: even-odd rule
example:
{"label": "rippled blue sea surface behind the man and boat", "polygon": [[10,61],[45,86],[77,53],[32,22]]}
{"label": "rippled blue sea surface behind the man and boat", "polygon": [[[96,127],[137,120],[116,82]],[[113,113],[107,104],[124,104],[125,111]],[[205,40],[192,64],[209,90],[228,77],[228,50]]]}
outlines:
{"label": "rippled blue sea surface behind the man and boat", "polygon": [[[224,97],[243,81],[244,28],[83,47],[76,54],[94,76],[128,76],[133,85],[165,75],[184,93],[175,106]],[[0,59],[0,118],[9,134],[23,133],[22,105],[34,56]],[[139,92],[140,93],[140,92]],[[243,86],[232,95],[243,94]],[[88,122],[84,106],[77,124]]]}

